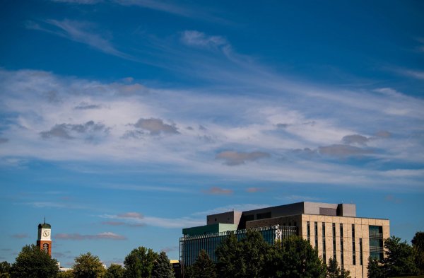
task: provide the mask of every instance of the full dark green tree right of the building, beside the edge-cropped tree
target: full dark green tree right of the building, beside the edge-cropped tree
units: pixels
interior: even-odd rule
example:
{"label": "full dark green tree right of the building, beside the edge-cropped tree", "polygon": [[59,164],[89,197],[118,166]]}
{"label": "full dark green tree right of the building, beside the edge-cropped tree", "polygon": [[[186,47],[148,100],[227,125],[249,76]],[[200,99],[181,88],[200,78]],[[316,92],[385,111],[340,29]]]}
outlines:
{"label": "full dark green tree right of the building, beside the edge-cropped tree", "polygon": [[418,274],[414,262],[414,253],[411,245],[401,238],[391,236],[384,241],[385,256],[383,259],[384,275],[386,277],[402,277]]}

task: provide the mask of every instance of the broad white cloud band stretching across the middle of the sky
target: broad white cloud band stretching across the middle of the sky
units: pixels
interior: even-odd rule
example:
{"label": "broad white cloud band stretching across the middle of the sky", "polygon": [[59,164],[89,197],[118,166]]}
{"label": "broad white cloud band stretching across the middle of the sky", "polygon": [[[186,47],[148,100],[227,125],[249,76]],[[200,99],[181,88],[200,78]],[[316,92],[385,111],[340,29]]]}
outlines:
{"label": "broad white cloud band stretching across the middle of the sky", "polygon": [[[228,44],[196,34],[190,38],[194,45]],[[392,186],[403,178],[382,174],[390,169],[350,163],[352,156],[382,164],[423,163],[419,139],[424,132],[423,100],[389,87],[341,91],[289,82],[235,52],[226,53],[230,56],[220,61],[227,67],[211,64],[201,71],[187,66],[208,77],[225,75],[228,88],[217,91],[211,86],[202,93],[196,88],[147,88],[131,79],[103,83],[45,71],[2,70],[0,108],[18,116],[8,124],[4,144],[10,147],[1,149],[0,156],[3,161],[31,157],[137,163],[140,168],[148,161],[176,173],[355,186]],[[247,87],[254,93],[245,93]],[[90,109],[76,109],[80,106]],[[108,130],[95,144],[86,138],[92,134],[69,132],[90,121]],[[52,130],[61,124],[66,124],[62,133]],[[72,139],[64,138],[63,131]],[[372,135],[380,131],[390,135]],[[63,140],[43,139],[42,132],[56,134],[54,138],[62,135]],[[295,149],[309,149],[310,154],[298,154]],[[254,151],[261,156],[254,156]],[[418,184],[411,176],[405,179],[411,186]],[[108,186],[184,192],[180,187]]]}

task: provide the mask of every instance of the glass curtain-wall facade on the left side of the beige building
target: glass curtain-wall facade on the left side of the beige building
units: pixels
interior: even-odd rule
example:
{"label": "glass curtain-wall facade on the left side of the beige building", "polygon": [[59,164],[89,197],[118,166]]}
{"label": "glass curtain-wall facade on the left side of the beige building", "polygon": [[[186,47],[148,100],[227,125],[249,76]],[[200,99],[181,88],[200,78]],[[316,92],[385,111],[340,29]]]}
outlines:
{"label": "glass curtain-wall facade on the left side of the beige building", "polygon": [[[252,230],[259,231],[267,243],[273,244],[278,239],[295,236],[298,229],[293,226],[275,225],[253,228]],[[199,236],[184,236],[179,238],[179,260],[182,265],[192,265],[199,256],[200,251],[203,249],[206,250],[206,253],[208,253],[213,262],[217,262],[215,250],[223,241],[225,241],[225,238],[227,238],[230,234],[234,234],[237,237],[237,241],[240,241],[242,238],[245,238],[246,231],[246,229],[243,229],[237,231],[225,231],[221,233],[209,233]]]}

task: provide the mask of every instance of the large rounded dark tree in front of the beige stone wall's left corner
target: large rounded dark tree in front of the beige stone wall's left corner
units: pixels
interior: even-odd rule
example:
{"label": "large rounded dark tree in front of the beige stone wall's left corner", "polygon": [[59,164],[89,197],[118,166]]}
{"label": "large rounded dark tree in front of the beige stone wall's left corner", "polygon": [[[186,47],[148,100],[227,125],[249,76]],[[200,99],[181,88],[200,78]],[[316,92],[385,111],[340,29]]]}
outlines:
{"label": "large rounded dark tree in front of the beige stone wall's left corner", "polygon": [[326,277],[326,265],[318,250],[299,236],[284,238],[276,243],[268,255],[266,277]]}

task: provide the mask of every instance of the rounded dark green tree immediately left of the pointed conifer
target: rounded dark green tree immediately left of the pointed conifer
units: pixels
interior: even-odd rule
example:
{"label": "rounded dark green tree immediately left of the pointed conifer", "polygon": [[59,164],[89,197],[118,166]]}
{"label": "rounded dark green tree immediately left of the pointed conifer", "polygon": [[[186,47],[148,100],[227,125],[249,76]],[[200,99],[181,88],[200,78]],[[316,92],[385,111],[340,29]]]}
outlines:
{"label": "rounded dark green tree immediately left of the pointed conifer", "polygon": [[151,278],[158,253],[143,246],[132,250],[124,260],[126,278]]}

